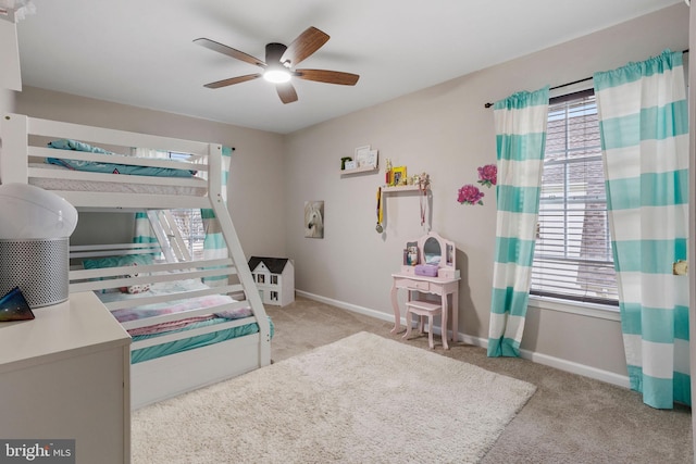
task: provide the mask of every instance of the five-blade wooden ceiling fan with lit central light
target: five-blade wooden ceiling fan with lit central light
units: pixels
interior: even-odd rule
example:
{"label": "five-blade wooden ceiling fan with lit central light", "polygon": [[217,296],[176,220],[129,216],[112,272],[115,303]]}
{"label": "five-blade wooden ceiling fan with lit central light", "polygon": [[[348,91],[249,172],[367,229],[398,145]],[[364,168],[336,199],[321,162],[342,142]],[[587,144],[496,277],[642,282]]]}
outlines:
{"label": "five-blade wooden ceiling fan with lit central light", "polygon": [[283,103],[291,103],[297,101],[297,92],[295,91],[293,84],[290,84],[290,79],[293,77],[325,84],[338,84],[343,86],[355,86],[360,78],[357,74],[343,73],[339,71],[297,70],[295,67],[326,43],[328,38],[330,37],[326,33],[323,33],[316,27],[309,27],[287,47],[283,43],[268,43],[265,46],[265,62],[243,51],[235,50],[232,47],[227,47],[207,38],[199,38],[194,40],[194,42],[219,53],[236,58],[237,60],[263,68],[263,72],[261,73],[231,77],[228,79],[206,84],[204,87],[208,87],[209,89],[217,89],[220,87],[246,83],[247,80],[263,77],[264,79],[275,84],[278,97],[281,97],[281,101],[283,101]]}

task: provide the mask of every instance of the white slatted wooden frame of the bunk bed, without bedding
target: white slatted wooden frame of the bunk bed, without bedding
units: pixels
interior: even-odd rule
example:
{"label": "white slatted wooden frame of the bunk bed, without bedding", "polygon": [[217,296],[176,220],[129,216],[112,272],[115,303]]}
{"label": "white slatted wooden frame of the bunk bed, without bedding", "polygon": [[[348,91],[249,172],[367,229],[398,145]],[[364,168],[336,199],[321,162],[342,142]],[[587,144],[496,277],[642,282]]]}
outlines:
{"label": "white slatted wooden frame of the bunk bed, without bedding", "polygon": [[[226,275],[228,281],[221,287],[207,290],[187,292],[187,297],[201,294],[231,294],[237,302],[228,303],[214,309],[187,311],[185,314],[170,314],[165,316],[124,323],[125,328],[138,325],[173,321],[192,315],[210,314],[212,312],[250,306],[252,316],[228,321],[223,324],[194,329],[154,339],[134,342],[132,350],[150,344],[158,344],[181,338],[206,333],[213,333],[238,325],[257,323],[259,333],[223,341],[220,343],[192,349],[177,354],[133,364],[130,367],[130,398],[132,409],[138,409],[156,401],[161,401],[181,394],[185,391],[210,385],[226,378],[235,377],[258,367],[269,365],[271,362],[271,335],[270,324],[265,310],[261,302],[258,289],[249,271],[247,259],[241,250],[229,212],[224,204],[221,195],[222,146],[174,138],[113,130],[98,127],[89,127],[70,123],[61,123],[18,114],[7,114],[0,121],[0,138],[2,140],[2,154],[0,155],[0,183],[32,183],[34,178],[65,178],[79,180],[94,180],[100,183],[122,183],[132,185],[157,186],[191,186],[207,187],[206,196],[182,195],[147,195],[147,193],[109,193],[100,191],[67,191],[54,192],[70,201],[78,211],[156,211],[179,208],[212,209],[220,221],[224,239],[227,244],[228,258],[208,261],[184,261],[186,256],[179,253],[165,253],[170,256],[170,263],[138,266],[139,276],[123,277],[132,273],[133,268],[111,267],[102,269],[76,269],[70,273],[70,291],[79,292],[87,290],[100,290],[102,288],[125,287],[134,284],[164,281],[182,278],[201,278],[211,275]],[[120,156],[97,153],[55,150],[46,148],[47,140],[73,139],[87,142],[97,147],[138,147],[173,152],[190,153],[195,163],[181,161]],[[114,150],[115,151],[115,150]],[[119,151],[120,153],[122,151]],[[124,152],[124,154],[126,154]],[[70,170],[50,170],[44,167],[30,167],[29,162],[40,161],[46,158],[62,158],[105,163],[132,164],[154,167],[171,167],[196,170],[207,173],[207,180],[201,178],[165,178],[148,176],[127,176],[113,174],[95,174],[75,172]],[[158,217],[149,214],[150,218]],[[160,242],[159,248],[171,251],[173,242]],[[145,247],[145,248],[142,248]],[[157,248],[157,247],[156,247]],[[159,250],[159,249],[158,249]],[[148,246],[139,244],[104,244],[73,247],[72,258],[99,256],[113,254],[135,254],[151,251]],[[171,256],[176,255],[172,260]],[[214,267],[211,269],[211,267]],[[161,272],[169,272],[166,275]],[[146,275],[158,273],[157,275]],[[97,277],[104,280],[96,279]],[[108,283],[108,284],[104,284]],[[194,294],[196,293],[196,294]],[[182,294],[171,297],[157,296],[144,297],[138,300],[141,304],[156,303],[167,300],[182,299]],[[108,303],[110,310],[127,308],[132,302]]]}

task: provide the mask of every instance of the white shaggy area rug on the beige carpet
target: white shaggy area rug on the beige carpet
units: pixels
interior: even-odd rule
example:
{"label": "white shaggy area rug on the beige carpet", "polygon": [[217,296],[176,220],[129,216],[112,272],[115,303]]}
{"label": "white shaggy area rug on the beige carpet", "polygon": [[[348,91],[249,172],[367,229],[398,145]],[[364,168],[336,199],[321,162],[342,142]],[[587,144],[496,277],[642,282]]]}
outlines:
{"label": "white shaggy area rug on the beige carpet", "polygon": [[133,462],[476,462],[535,390],[360,333],[136,411]]}

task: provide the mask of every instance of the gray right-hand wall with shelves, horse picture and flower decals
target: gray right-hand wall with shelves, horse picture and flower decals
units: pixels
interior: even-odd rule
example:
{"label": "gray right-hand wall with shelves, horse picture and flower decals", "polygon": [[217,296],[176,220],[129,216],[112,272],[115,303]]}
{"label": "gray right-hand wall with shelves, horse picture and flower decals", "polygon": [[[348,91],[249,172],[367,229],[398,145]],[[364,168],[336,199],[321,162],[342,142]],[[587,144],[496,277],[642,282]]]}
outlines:
{"label": "gray right-hand wall with shelves, horse picture and flower decals", "polygon": [[[407,240],[423,234],[419,196],[390,196],[386,233],[375,231],[378,174],[339,177],[339,160],[371,145],[408,173],[432,178],[432,228],[457,244],[462,273],[459,331],[480,342],[488,336],[495,242],[495,190],[483,206],[457,203],[457,189],[475,183],[476,167],[495,163],[490,109],[484,103],[519,90],[536,90],[589,77],[596,71],[688,46],[688,10],[676,4],[629,23],[562,43],[406,97],[294,133],[287,137],[287,250],[296,285],[306,292],[390,314],[390,274]],[[462,58],[463,59],[463,58]],[[304,238],[307,200],[325,202],[325,238]],[[572,363],[625,376],[617,321],[531,309],[522,348],[549,364]]]}

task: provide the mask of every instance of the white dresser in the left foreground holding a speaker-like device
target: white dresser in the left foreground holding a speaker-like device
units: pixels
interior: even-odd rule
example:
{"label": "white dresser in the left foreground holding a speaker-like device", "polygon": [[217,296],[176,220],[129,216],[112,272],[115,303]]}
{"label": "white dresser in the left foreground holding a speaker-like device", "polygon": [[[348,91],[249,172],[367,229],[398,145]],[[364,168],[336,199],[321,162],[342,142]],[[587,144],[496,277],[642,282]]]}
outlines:
{"label": "white dresser in the left foreground holding a speaker-like device", "polygon": [[130,460],[130,337],[91,292],[0,323],[0,437],[75,439],[77,463]]}

